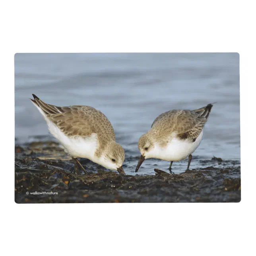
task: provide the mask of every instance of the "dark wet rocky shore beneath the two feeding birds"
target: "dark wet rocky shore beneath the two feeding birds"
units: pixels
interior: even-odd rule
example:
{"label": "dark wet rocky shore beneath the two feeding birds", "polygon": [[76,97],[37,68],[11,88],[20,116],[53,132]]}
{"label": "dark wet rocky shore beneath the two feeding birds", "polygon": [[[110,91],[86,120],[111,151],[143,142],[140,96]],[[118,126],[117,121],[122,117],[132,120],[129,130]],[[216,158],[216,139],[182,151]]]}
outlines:
{"label": "dark wet rocky shore beneath the two feeding birds", "polygon": [[122,176],[83,159],[89,173],[76,175],[72,160],[56,142],[16,145],[15,202],[240,202],[240,166],[225,160],[227,167],[216,168],[216,161],[224,160],[213,157],[204,161],[204,168],[180,174],[155,169],[155,175]]}

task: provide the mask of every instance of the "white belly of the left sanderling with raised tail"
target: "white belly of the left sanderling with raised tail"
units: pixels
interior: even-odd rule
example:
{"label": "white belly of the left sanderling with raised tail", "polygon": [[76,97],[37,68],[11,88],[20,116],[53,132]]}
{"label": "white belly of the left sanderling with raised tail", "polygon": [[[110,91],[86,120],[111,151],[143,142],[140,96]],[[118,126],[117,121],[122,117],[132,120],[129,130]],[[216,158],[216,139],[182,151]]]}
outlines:
{"label": "white belly of the left sanderling with raised tail", "polygon": [[63,145],[66,152],[72,157],[82,157],[96,162],[95,151],[98,149],[99,143],[97,134],[91,136],[66,136],[53,122],[45,118],[50,133]]}

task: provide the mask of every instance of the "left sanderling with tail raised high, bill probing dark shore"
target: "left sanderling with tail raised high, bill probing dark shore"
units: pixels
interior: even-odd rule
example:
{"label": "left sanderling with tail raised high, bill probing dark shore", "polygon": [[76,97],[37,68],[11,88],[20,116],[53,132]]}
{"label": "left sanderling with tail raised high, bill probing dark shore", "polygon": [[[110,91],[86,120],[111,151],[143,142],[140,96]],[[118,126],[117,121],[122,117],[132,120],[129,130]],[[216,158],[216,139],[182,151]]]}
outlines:
{"label": "left sanderling with tail raised high, bill probing dark shore", "polygon": [[31,101],[45,118],[48,130],[72,157],[77,174],[78,165],[86,173],[77,157],[125,174],[124,149],[116,143],[111,122],[101,111],[82,105],[57,107],[32,95]]}

